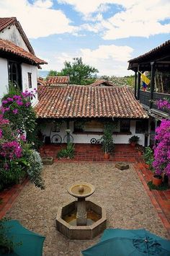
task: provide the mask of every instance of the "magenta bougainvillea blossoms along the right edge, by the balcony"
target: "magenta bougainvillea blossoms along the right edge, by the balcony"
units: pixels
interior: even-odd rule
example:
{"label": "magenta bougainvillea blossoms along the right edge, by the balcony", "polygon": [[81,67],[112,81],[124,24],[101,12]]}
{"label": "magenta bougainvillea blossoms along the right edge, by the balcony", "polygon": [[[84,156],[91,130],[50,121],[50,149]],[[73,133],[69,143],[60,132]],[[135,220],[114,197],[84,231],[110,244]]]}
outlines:
{"label": "magenta bougainvillea blossoms along the right edge, by the balcony", "polygon": [[[166,108],[170,110],[170,103],[168,100],[159,100],[157,102],[158,108]],[[167,175],[170,179],[170,120],[161,120],[161,125],[156,128],[157,141],[154,147],[154,161],[153,168],[156,174]]]}

